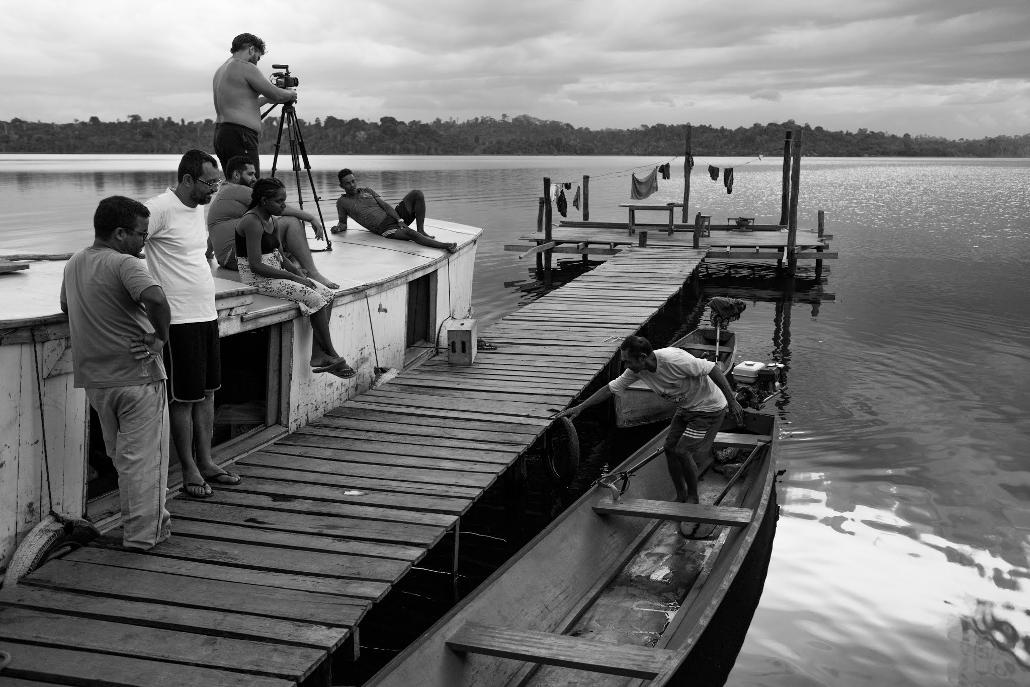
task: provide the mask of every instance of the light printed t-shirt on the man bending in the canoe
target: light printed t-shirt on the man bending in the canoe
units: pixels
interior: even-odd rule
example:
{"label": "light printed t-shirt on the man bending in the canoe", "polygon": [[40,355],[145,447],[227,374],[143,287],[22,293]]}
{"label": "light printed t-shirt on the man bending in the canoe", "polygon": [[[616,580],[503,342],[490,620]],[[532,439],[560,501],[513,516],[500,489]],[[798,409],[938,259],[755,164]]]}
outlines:
{"label": "light printed t-shirt on the man bending in the canoe", "polygon": [[713,413],[726,407],[726,397],[709,377],[715,363],[694,357],[681,348],[654,351],[658,368],[654,372],[626,370],[608,383],[615,396],[640,380],[665,401],[686,410]]}

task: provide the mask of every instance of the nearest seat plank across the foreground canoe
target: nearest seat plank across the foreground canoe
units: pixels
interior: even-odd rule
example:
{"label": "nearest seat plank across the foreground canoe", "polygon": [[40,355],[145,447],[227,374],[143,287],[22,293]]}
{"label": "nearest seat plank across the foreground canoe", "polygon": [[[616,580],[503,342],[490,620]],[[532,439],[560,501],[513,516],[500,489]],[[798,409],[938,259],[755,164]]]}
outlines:
{"label": "nearest seat plank across the foreground canoe", "polygon": [[652,679],[673,660],[673,652],[626,644],[606,644],[568,634],[467,622],[447,639],[452,651],[501,656],[546,665]]}

